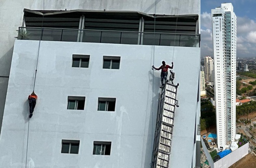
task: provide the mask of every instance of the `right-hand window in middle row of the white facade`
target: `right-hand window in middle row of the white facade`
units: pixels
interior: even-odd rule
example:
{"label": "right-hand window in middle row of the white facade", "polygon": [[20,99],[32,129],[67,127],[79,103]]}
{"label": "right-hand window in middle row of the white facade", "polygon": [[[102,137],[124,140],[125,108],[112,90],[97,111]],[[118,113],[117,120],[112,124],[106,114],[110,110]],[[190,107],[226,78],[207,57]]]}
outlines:
{"label": "right-hand window in middle row of the white facade", "polygon": [[98,98],[98,111],[115,111],[116,98]]}

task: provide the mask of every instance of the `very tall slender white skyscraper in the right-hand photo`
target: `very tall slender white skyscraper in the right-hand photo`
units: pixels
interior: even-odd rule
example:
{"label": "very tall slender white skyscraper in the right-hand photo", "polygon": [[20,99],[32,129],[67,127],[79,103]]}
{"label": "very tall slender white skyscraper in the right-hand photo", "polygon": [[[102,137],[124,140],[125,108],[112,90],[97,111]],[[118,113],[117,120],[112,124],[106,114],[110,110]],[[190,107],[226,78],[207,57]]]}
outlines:
{"label": "very tall slender white skyscraper in the right-hand photo", "polygon": [[212,9],[217,144],[236,134],[236,15],[231,3]]}

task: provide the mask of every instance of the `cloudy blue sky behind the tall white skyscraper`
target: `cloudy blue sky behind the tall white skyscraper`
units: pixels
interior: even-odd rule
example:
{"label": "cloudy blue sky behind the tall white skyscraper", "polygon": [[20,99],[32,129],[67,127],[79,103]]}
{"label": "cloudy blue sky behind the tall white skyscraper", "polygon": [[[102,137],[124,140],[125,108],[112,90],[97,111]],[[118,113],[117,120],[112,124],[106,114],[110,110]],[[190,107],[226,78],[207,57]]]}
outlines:
{"label": "cloudy blue sky behind the tall white skyscraper", "polygon": [[225,2],[236,14],[236,57],[256,57],[256,0],[201,0],[201,57],[213,57],[211,9]]}

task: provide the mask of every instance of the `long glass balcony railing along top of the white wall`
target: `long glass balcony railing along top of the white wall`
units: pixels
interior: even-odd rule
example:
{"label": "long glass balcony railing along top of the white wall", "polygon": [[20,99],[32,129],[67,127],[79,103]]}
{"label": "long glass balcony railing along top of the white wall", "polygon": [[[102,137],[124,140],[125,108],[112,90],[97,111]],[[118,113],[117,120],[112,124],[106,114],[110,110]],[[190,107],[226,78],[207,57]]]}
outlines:
{"label": "long glass balcony railing along top of the white wall", "polygon": [[200,34],[20,27],[19,40],[200,47]]}

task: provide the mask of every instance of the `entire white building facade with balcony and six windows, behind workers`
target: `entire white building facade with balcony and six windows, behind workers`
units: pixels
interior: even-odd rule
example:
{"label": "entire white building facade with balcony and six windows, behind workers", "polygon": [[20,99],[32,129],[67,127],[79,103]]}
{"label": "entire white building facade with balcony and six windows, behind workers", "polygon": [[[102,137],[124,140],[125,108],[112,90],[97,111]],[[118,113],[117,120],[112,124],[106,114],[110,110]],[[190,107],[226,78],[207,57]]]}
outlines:
{"label": "entire white building facade with balcony and six windows, behind workers", "polygon": [[199,0],[3,6],[17,14],[4,31],[22,27],[9,44],[0,167],[150,167],[161,93],[151,67],[163,60],[179,83],[169,167],[200,167]]}

